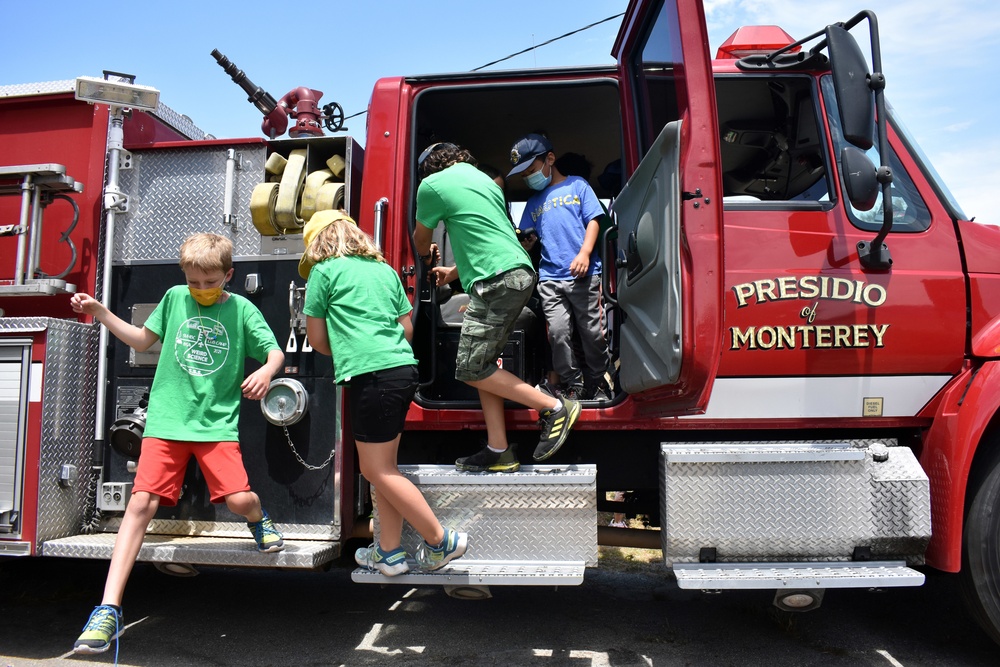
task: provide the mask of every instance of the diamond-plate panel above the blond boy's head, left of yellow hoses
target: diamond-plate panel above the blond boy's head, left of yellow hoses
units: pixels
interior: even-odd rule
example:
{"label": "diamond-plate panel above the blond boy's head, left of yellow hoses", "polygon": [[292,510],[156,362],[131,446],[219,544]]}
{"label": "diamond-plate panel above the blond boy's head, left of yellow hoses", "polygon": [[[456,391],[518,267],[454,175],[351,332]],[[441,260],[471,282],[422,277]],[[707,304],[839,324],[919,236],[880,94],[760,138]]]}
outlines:
{"label": "diamond-plate panel above the blond boy's head, left of yellow hoses", "polygon": [[[226,159],[234,149],[233,213],[239,231],[223,223]],[[244,143],[132,153],[119,173],[129,210],[116,219],[113,261],[173,261],[181,243],[196,232],[214,232],[233,242],[235,256],[260,254],[260,234],[250,222],[253,188],[264,180],[266,146]]]}

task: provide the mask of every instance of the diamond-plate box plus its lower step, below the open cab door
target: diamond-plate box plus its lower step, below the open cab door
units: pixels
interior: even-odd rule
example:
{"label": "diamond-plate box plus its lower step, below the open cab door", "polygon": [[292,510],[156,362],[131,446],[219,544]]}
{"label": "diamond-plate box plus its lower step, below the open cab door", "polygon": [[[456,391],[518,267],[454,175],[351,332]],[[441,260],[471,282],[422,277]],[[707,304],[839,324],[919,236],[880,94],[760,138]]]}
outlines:
{"label": "diamond-plate box plus its lower step, below the open cab door", "polygon": [[[359,568],[354,581],[444,585],[579,584],[597,565],[597,466],[533,465],[518,472],[469,474],[454,466],[400,466],[441,524],[470,534],[462,558],[435,572],[385,577]],[[378,498],[375,540],[378,540]],[[420,536],[404,525],[402,545]],[[416,569],[416,564],[411,564]]]}

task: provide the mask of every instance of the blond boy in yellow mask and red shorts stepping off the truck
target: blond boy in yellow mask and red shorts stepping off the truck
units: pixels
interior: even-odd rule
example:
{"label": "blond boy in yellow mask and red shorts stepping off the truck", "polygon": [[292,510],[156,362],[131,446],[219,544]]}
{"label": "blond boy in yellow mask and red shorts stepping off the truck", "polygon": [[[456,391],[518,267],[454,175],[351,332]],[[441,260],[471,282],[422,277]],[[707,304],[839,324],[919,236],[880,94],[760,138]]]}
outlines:
{"label": "blond boy in yellow mask and red shorts stepping off the truck", "polygon": [[[233,244],[217,234],[195,234],[181,245],[187,285],[171,287],[142,327],[129,324],[87,294],[70,305],[95,317],[119,340],[143,352],[156,341],[156,364],[143,431],[142,456],[125,509],[104,597],[73,650],[102,653],[124,631],[121,600],[149,522],[160,505],[176,505],[187,463],[197,459],[211,501],[246,517],[261,552],[284,548],[260,498],[250,490],[238,442],[240,396],[260,400],[285,355],[260,310],[224,291],[233,276]],[[263,365],[243,378],[252,357]]]}

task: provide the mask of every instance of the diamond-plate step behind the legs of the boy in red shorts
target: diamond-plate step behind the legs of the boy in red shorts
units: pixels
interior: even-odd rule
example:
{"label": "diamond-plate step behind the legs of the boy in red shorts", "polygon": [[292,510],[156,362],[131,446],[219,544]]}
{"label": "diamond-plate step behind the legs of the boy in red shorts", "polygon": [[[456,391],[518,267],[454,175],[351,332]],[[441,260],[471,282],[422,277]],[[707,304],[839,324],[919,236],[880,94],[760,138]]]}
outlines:
{"label": "diamond-plate step behind the legs of the boy in red shorts", "polygon": [[[41,554],[110,560],[115,537],[115,533],[98,533],[48,540],[41,545]],[[284,551],[262,554],[257,551],[256,544],[250,538],[146,535],[137,560],[190,565],[311,569],[332,561],[339,554],[339,544],[325,541],[285,540]]]}

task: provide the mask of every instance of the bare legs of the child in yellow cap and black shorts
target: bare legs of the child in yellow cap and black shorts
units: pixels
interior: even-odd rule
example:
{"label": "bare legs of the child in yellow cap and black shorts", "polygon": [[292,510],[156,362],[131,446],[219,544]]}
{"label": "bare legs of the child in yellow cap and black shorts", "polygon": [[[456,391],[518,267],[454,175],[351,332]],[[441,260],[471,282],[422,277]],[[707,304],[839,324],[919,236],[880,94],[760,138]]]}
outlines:
{"label": "bare legs of the child in yellow cap and black shorts", "polygon": [[399,439],[400,436],[396,436],[389,442],[357,443],[361,474],[378,494],[379,548],[384,552],[399,548],[403,519],[409,521],[429,544],[438,544],[444,539],[441,522],[427,500],[396,467]]}

